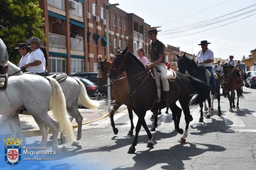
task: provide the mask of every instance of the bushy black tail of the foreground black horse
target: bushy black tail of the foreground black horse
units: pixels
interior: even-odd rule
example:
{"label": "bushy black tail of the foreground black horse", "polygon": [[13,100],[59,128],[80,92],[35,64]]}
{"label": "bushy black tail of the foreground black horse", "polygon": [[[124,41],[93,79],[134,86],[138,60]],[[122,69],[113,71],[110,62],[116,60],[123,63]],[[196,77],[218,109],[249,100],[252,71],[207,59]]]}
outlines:
{"label": "bushy black tail of the foreground black horse", "polygon": [[193,108],[196,105],[204,102],[209,97],[210,86],[207,85],[205,82],[203,82],[199,79],[196,79],[195,77],[192,77],[190,75],[186,75],[186,76],[190,79],[191,85],[194,88],[195,93],[198,94],[190,102],[190,106],[192,106],[192,108]]}

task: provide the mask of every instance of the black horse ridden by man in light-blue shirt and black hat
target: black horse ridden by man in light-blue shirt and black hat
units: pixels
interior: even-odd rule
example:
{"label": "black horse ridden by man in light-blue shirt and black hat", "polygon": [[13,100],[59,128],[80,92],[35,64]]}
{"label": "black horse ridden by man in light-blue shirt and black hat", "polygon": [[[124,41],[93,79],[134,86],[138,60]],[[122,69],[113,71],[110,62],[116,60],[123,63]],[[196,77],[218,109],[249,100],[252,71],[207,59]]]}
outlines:
{"label": "black horse ridden by man in light-blue shirt and black hat", "polygon": [[[207,78],[206,78],[206,68],[204,68],[203,66],[198,66],[195,61],[193,59],[190,59],[189,57],[186,57],[186,53],[180,57],[178,55],[176,55],[178,58],[178,69],[180,73],[185,74],[185,72],[187,71],[189,75],[200,79],[204,82],[207,82]],[[211,94],[212,96],[210,97],[210,94],[208,95],[207,101],[208,101],[208,105],[209,105],[209,111],[207,113],[206,119],[210,118],[211,115],[211,110],[213,110],[213,99],[214,99],[214,94],[215,92],[217,92],[217,99],[218,99],[218,116],[221,116],[221,106],[220,106],[220,99],[221,99],[221,94],[220,94],[220,75],[215,72],[218,76],[218,79],[216,79],[216,88],[211,87]],[[212,102],[211,102],[211,98],[212,98]],[[203,118],[203,102],[199,104],[200,108],[201,108],[201,114],[200,114],[200,119],[199,122],[203,122],[204,118]],[[211,109],[210,109],[211,108]]]}

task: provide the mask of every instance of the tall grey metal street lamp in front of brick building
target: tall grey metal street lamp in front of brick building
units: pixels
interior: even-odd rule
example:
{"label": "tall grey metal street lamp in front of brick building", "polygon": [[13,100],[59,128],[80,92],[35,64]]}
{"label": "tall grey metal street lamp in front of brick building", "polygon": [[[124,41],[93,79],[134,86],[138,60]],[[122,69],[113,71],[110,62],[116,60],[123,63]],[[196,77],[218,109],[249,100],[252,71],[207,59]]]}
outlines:
{"label": "tall grey metal street lamp in front of brick building", "polygon": [[[106,48],[106,57],[107,59],[110,59],[109,57],[109,22],[108,22],[108,9],[111,7],[111,6],[118,6],[119,3],[115,3],[115,4],[111,4],[109,3],[108,5],[106,5],[106,34],[107,34],[107,48]],[[108,77],[108,113],[110,113],[111,111],[111,103],[110,103],[110,100],[111,100],[111,96],[110,96],[110,79]]]}

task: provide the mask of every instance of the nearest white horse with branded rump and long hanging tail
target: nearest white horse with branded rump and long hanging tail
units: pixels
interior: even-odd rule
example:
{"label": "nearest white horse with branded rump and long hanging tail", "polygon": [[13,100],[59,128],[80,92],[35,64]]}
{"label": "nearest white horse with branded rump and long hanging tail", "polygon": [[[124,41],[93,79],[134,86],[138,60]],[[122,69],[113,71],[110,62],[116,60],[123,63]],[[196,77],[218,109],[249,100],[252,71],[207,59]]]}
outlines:
{"label": "nearest white horse with branded rump and long hanging tail", "polygon": [[[49,80],[48,80],[49,79]],[[49,127],[52,131],[52,149],[63,152],[64,146],[58,146],[58,132],[62,130],[68,143],[73,143],[76,138],[67,113],[66,101],[61,86],[49,77],[48,79],[32,74],[11,76],[6,89],[0,91],[0,128],[21,109],[26,108],[36,122]],[[3,79],[0,79],[3,82]],[[52,110],[53,120],[47,111]],[[40,127],[40,126],[39,126]],[[47,144],[47,132],[41,127],[41,146]]]}

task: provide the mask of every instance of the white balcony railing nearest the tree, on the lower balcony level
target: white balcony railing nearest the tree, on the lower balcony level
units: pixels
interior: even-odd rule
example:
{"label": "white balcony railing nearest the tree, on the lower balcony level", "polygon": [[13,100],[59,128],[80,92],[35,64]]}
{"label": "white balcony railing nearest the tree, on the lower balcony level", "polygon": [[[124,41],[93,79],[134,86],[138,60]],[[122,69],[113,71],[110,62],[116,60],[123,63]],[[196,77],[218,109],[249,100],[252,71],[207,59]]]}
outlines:
{"label": "white balcony railing nearest the tree, on the lower balcony level", "polygon": [[49,46],[66,48],[66,36],[49,33]]}

